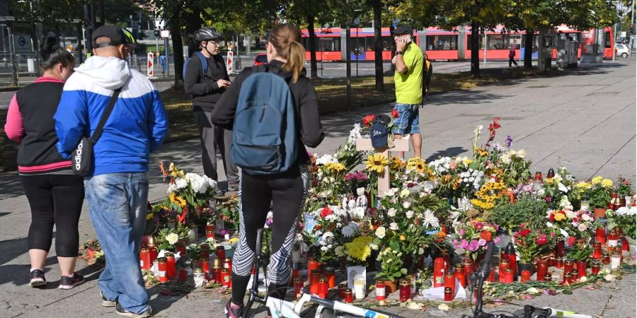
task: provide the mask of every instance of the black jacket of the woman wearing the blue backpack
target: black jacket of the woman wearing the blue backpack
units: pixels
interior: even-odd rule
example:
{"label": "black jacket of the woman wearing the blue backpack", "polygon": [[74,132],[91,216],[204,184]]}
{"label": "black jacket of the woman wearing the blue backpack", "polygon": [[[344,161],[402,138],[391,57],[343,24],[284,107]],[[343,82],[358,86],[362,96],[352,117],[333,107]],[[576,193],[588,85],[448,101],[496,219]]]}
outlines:
{"label": "black jacket of the woman wearing the blue backpack", "polygon": [[[304,164],[308,162],[309,155],[304,151],[303,145],[314,148],[319,146],[323,138],[325,138],[323,127],[321,126],[321,117],[319,116],[319,102],[316,100],[316,92],[309,79],[305,76],[300,76],[296,83],[291,83],[292,72],[281,69],[282,65],[282,62],[274,60],[265,64],[265,67],[270,73],[282,76],[289,83],[289,88],[294,98],[296,126],[299,129],[297,132],[297,136],[299,136],[297,163]],[[250,67],[243,69],[226,93],[222,95],[222,98],[214,108],[214,112],[212,112],[212,124],[222,126],[225,129],[232,129],[236,103],[239,102],[241,83],[252,74],[252,71]]]}

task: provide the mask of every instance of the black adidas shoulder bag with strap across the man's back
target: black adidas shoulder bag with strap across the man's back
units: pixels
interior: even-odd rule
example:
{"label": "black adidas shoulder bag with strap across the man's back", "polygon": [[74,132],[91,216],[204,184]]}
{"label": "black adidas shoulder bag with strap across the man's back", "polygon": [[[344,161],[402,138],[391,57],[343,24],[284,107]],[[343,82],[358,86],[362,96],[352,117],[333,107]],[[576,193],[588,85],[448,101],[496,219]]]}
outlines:
{"label": "black adidas shoulder bag with strap across the man's back", "polygon": [[110,97],[108,105],[104,110],[104,114],[102,114],[102,118],[100,119],[100,123],[93,132],[93,136],[91,136],[91,138],[82,136],[82,139],[74,149],[71,155],[71,168],[74,174],[86,176],[93,170],[93,145],[95,145],[102,135],[104,124],[106,124],[106,120],[108,120],[110,113],[113,112],[115,102],[117,102],[117,98],[120,96],[120,90],[122,90],[122,88],[117,88],[113,91],[113,96]]}

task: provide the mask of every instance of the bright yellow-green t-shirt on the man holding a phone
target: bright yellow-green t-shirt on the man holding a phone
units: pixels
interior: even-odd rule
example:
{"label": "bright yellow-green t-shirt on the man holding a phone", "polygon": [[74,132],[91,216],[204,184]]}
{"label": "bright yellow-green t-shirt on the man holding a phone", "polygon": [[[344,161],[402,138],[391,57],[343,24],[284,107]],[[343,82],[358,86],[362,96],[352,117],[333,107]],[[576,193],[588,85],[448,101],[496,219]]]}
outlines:
{"label": "bright yellow-green t-shirt on the man holding a phone", "polygon": [[394,73],[396,102],[420,104],[423,102],[423,51],[412,41],[403,52],[403,61],[407,71]]}

